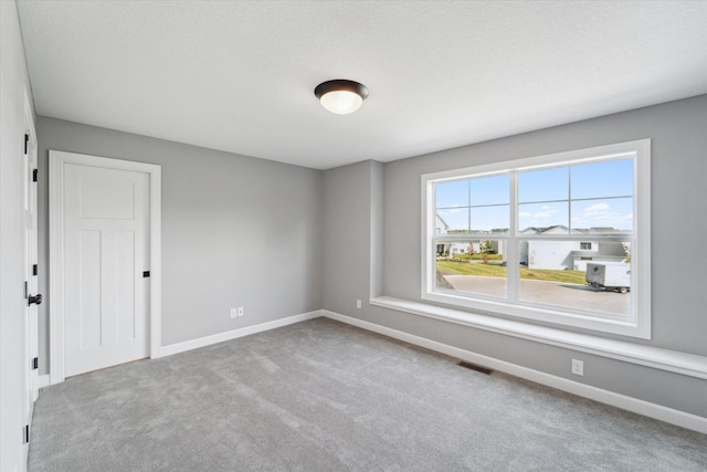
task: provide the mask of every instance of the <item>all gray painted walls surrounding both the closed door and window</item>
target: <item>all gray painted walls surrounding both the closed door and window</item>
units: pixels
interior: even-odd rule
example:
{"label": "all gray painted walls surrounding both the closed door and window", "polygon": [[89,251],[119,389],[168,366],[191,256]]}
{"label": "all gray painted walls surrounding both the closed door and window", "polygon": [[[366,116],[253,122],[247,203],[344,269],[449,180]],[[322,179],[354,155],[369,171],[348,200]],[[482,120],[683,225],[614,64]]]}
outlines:
{"label": "all gray painted walls surrounding both the closed door and window", "polygon": [[[371,294],[420,300],[422,174],[651,138],[653,339],[623,339],[707,355],[706,116],[701,96],[324,172],[40,117],[40,231],[48,149],[160,164],[165,345],[323,307],[707,417],[705,380],[368,304]],[[45,285],[46,240],[40,250]],[[236,305],[246,316],[231,319]],[[41,328],[45,371],[45,311]],[[584,377],[570,375],[571,358],[584,360]]]}

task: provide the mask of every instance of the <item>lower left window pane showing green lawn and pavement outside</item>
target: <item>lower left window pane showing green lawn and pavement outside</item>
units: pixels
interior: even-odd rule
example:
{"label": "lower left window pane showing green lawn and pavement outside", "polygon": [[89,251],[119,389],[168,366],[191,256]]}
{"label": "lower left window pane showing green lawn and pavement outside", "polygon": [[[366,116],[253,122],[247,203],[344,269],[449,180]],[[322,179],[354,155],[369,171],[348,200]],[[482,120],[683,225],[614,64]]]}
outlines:
{"label": "lower left window pane showing green lawn and pavement outside", "polygon": [[506,296],[506,240],[435,243],[435,291]]}

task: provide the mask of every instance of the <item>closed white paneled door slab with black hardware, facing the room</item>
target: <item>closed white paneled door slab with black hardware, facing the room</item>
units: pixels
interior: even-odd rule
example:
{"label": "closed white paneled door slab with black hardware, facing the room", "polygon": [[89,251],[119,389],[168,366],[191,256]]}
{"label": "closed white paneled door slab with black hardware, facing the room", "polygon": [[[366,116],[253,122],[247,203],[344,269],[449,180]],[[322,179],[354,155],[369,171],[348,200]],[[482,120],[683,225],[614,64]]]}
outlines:
{"label": "closed white paneled door slab with black hardware, facing the room", "polygon": [[148,357],[149,175],[65,164],[63,256],[65,376]]}

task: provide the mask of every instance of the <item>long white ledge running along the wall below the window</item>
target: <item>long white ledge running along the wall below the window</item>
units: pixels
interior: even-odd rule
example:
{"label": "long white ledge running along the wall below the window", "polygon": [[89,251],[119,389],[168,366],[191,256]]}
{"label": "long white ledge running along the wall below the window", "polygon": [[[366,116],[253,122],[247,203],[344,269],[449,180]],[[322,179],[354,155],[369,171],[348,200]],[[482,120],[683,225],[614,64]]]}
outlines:
{"label": "long white ledge running along the wall below the window", "polygon": [[655,369],[707,379],[707,357],[624,340],[606,339],[558,328],[536,326],[511,319],[496,318],[461,310],[445,308],[392,296],[378,296],[371,305],[441,319],[536,343],[579,350]]}

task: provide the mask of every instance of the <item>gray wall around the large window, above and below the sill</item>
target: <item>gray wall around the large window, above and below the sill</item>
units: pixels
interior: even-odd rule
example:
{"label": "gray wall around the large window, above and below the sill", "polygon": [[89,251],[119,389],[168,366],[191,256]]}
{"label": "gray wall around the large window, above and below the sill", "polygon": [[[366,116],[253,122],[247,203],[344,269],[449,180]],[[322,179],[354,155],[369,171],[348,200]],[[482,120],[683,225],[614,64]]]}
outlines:
{"label": "gray wall around the large window, above and below the sill", "polygon": [[[382,293],[421,300],[422,174],[651,138],[653,338],[606,337],[707,356],[707,276],[703,266],[707,261],[705,130],[707,96],[699,96],[389,162],[384,166],[382,228],[371,224],[376,216],[368,203],[376,193],[376,179],[365,171],[367,164],[327,170],[324,198],[328,290],[324,308],[707,417],[705,380],[367,304],[363,310],[356,310],[354,300],[361,296],[380,269],[374,261],[371,266],[367,251],[371,238],[380,238],[381,233]],[[346,244],[341,244],[344,240]],[[571,358],[584,360],[584,377],[570,375]]]}

